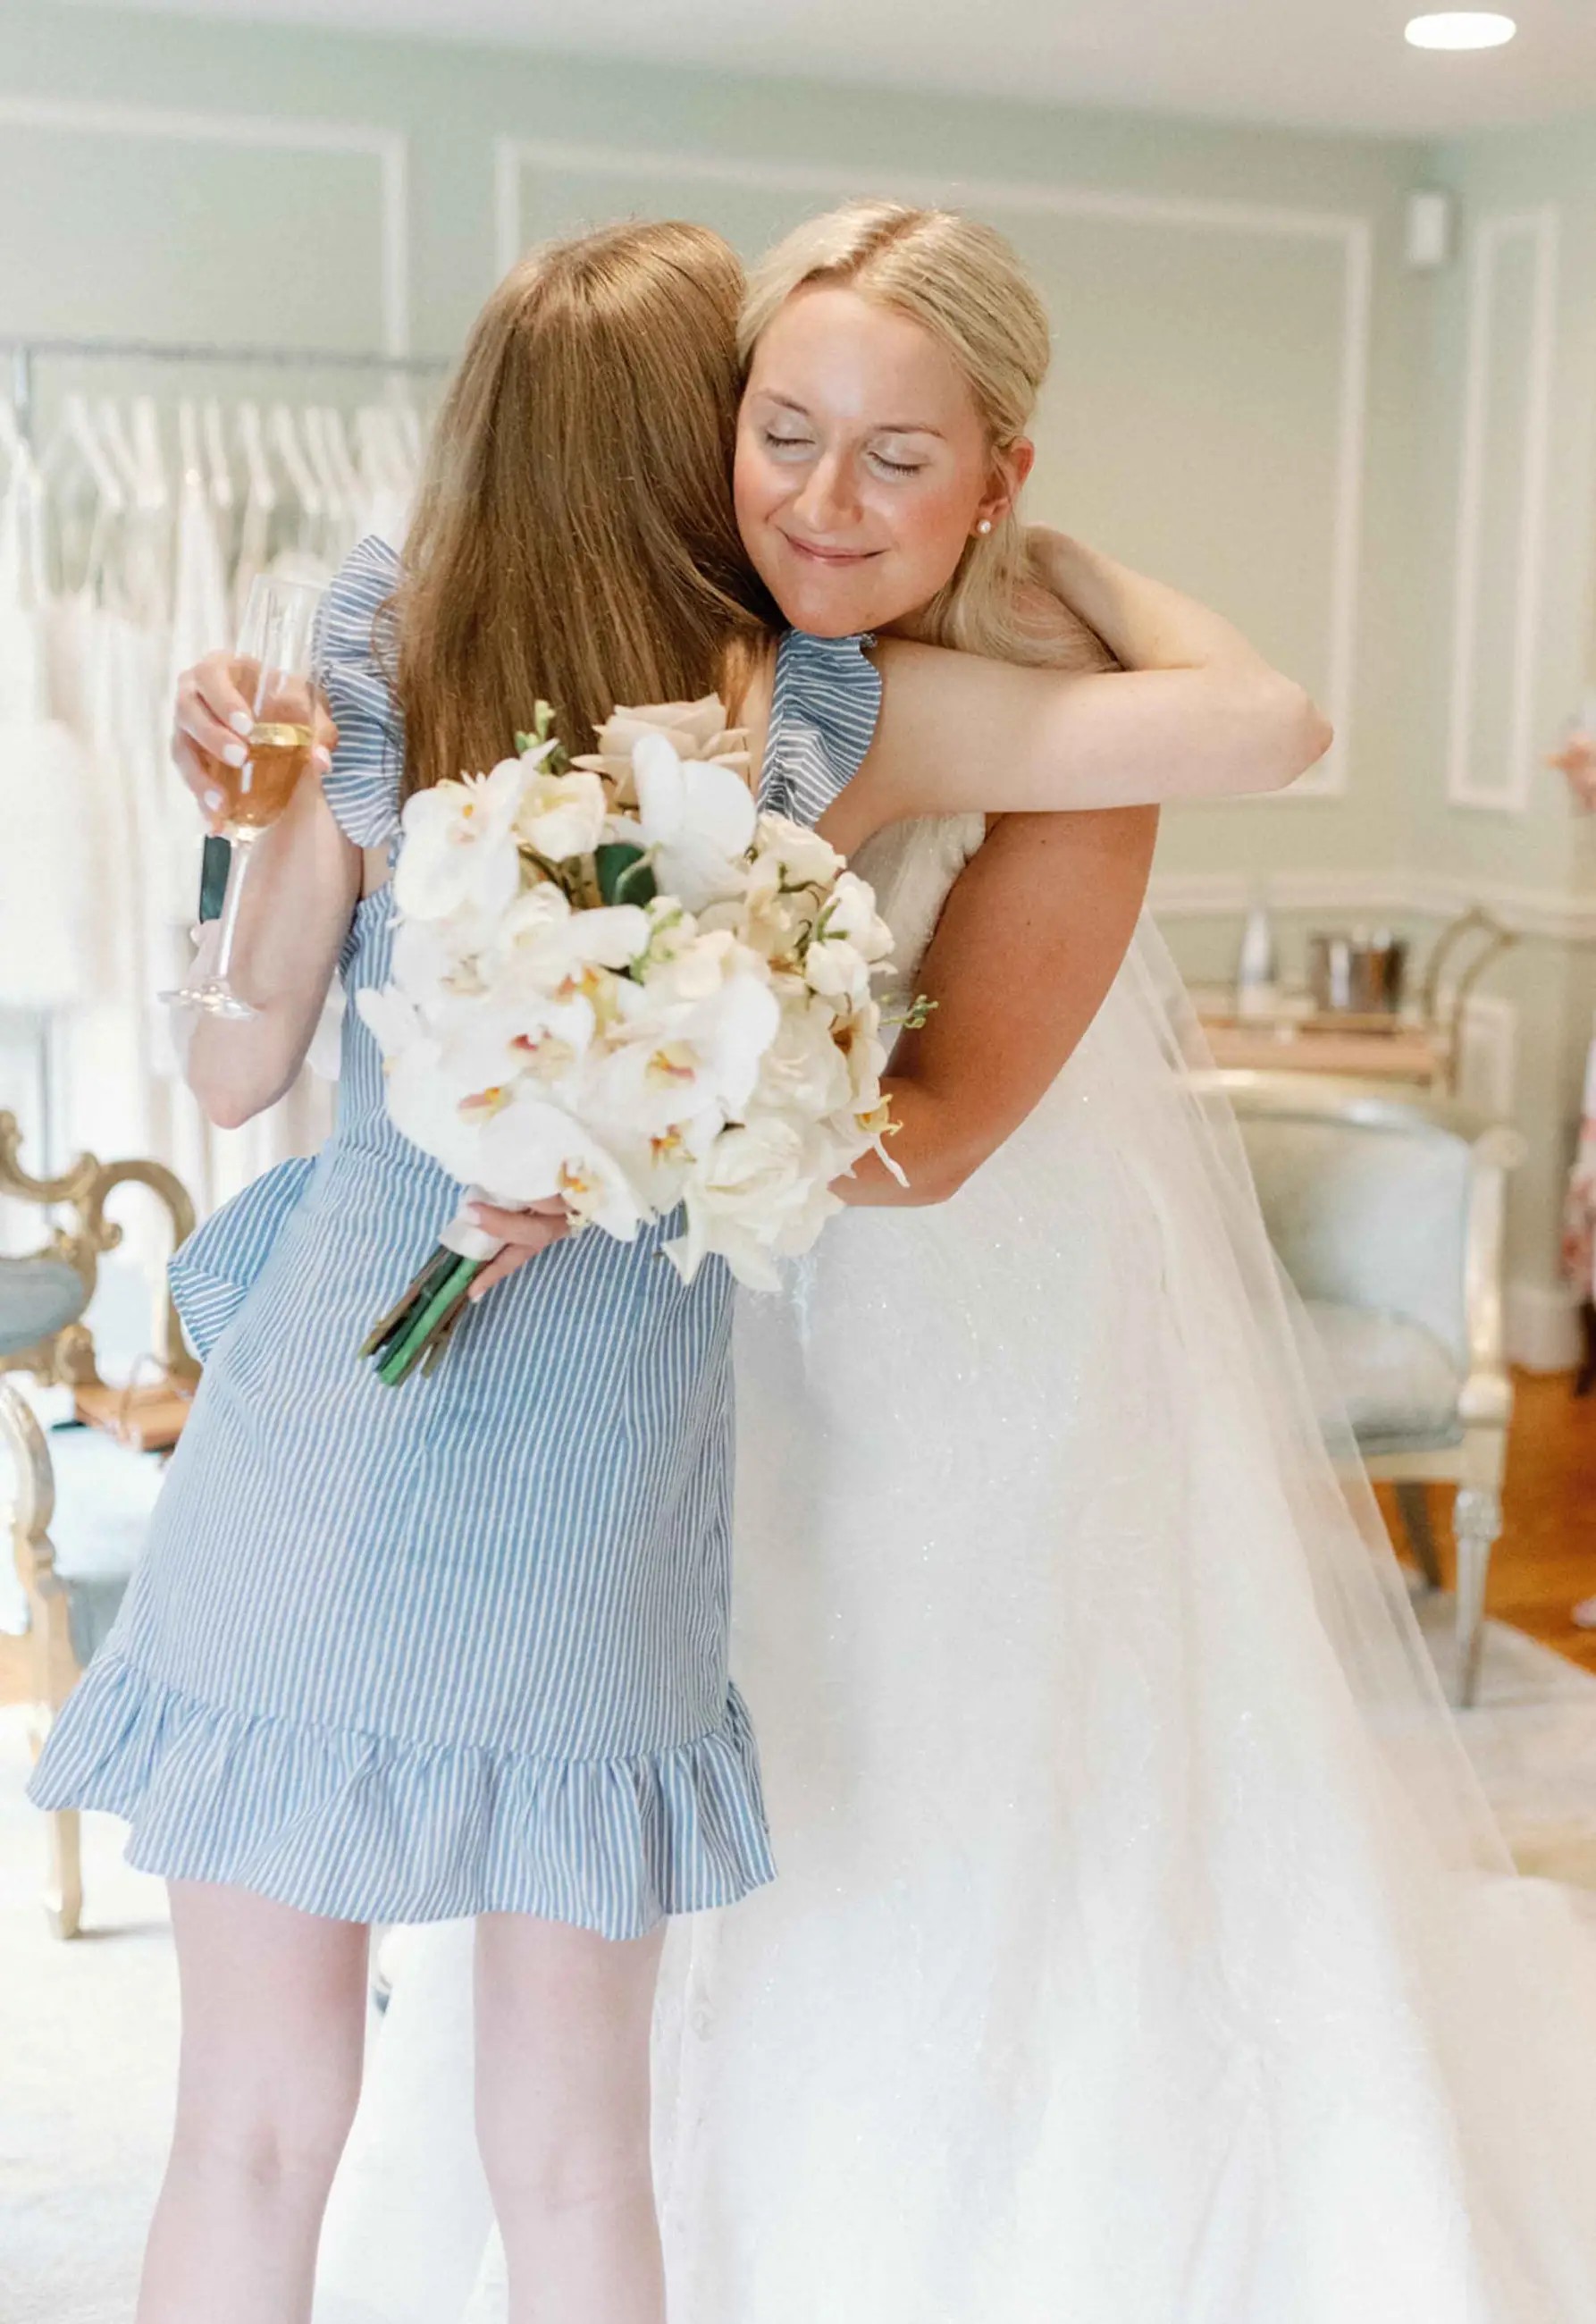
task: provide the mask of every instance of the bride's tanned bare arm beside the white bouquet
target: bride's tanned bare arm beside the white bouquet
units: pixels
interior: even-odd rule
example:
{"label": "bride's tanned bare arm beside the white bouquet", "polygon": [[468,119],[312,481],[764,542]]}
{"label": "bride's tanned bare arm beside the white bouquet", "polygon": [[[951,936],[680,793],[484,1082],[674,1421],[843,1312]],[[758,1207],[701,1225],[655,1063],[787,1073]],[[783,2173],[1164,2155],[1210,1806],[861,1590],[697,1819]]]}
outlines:
{"label": "bride's tanned bare arm beside the white bouquet", "polygon": [[1113,985],[1148,890],[1157,809],[1004,816],[943,906],[918,988],[936,1002],[904,1034],[885,1090],[901,1188],[867,1155],[850,1204],[929,1204],[969,1174],[1052,1085]]}

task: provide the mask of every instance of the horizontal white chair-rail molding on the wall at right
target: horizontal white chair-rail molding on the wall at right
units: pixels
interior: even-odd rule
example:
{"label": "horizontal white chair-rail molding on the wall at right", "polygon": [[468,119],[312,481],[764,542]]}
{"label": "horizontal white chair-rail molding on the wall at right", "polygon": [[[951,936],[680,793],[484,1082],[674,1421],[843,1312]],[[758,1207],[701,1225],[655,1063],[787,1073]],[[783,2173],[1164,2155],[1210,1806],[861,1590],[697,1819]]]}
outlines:
{"label": "horizontal white chair-rail molding on the wall at right", "polygon": [[[1547,944],[1596,944],[1596,897],[1452,871],[1268,871],[1273,911],[1350,911],[1361,918],[1415,916],[1452,920],[1484,904],[1519,937]],[[1148,902],[1164,920],[1229,920],[1245,913],[1257,888],[1250,871],[1159,871]]]}

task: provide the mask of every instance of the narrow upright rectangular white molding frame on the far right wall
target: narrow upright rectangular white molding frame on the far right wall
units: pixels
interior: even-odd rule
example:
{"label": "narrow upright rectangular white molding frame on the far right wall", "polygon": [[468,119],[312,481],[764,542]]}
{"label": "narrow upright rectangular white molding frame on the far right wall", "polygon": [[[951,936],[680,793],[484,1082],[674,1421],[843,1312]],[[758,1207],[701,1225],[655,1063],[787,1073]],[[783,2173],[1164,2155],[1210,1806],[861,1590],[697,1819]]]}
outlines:
{"label": "narrow upright rectangular white molding frame on the far right wall", "polygon": [[[1480,781],[1473,767],[1473,751],[1496,270],[1503,249],[1519,239],[1531,246],[1533,290],[1531,328],[1524,346],[1524,435],[1519,444],[1522,486],[1512,581],[1508,762],[1501,769],[1501,781]],[[1519,816],[1529,809],[1536,776],[1536,676],[1547,548],[1552,374],[1557,360],[1557,253],[1559,207],[1557,202],[1543,202],[1538,209],[1503,211],[1482,218],[1468,256],[1468,353],[1464,370],[1464,444],[1457,481],[1447,802],[1452,806],[1484,806]]]}

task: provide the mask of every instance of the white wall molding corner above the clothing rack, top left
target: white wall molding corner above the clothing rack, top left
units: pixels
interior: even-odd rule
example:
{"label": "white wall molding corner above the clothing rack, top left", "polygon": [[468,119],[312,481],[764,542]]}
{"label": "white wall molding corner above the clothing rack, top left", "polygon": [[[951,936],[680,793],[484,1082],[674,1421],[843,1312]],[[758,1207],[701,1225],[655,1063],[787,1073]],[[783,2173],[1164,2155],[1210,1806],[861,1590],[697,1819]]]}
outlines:
{"label": "white wall molding corner above the clothing rack, top left", "polygon": [[156,105],[12,95],[0,95],[0,128],[60,130],[70,137],[158,137],[232,151],[351,153],[372,160],[381,202],[381,353],[409,353],[409,139],[402,130],[300,114],[188,114]]}

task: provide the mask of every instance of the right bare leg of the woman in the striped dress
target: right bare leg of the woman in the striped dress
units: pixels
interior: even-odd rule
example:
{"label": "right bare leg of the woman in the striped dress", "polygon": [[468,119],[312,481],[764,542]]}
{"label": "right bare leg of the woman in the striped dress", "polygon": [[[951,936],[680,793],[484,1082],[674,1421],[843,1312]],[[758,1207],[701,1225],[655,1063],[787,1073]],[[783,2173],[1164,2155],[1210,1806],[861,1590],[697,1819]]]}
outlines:
{"label": "right bare leg of the woman in the striped dress", "polygon": [[664,1931],[486,1913],[476,2136],[509,2261],[509,2324],[664,2324],[648,2159],[648,2033]]}

